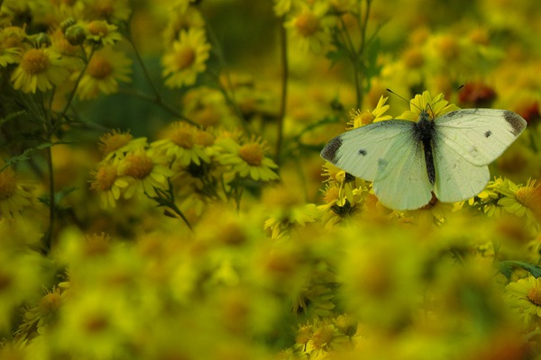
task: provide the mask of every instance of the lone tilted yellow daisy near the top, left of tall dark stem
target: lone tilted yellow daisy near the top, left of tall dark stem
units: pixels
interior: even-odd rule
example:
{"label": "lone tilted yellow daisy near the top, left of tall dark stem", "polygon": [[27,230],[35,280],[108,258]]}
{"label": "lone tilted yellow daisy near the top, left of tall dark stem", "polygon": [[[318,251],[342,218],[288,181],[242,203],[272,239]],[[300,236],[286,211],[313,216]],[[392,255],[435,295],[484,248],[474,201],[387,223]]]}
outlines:
{"label": "lone tilted yellow daisy near the top, left of tall dark stem", "polygon": [[209,51],[205,31],[196,28],[180,31],[179,40],[173,42],[172,49],[162,58],[165,85],[195,84],[197,75],[206,70]]}

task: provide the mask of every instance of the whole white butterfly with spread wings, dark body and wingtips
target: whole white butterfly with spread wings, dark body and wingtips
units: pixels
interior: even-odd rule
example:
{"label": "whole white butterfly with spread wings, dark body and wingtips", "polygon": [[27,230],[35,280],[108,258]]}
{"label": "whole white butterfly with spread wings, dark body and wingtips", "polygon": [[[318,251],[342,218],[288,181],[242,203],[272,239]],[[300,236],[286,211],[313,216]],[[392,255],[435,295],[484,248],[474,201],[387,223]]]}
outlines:
{"label": "whole white butterfly with spread wings, dark body and wingtips", "polygon": [[329,141],[321,157],[372,182],[385,206],[418,209],[432,199],[459,202],[481,193],[488,165],[517,139],[526,121],[517,113],[464,109],[431,120],[374,122]]}

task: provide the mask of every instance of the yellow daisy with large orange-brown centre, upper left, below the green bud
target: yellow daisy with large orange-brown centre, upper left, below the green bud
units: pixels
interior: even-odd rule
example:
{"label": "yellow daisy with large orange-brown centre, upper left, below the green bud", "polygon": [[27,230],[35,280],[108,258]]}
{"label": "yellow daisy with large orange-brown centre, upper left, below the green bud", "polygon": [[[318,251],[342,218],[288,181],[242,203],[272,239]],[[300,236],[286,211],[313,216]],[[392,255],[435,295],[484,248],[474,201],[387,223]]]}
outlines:
{"label": "yellow daisy with large orange-brown centre, upper left, below the green bud", "polygon": [[24,93],[47,91],[60,85],[69,76],[60,55],[50,48],[27,49],[19,66],[14,69],[11,81],[14,88]]}

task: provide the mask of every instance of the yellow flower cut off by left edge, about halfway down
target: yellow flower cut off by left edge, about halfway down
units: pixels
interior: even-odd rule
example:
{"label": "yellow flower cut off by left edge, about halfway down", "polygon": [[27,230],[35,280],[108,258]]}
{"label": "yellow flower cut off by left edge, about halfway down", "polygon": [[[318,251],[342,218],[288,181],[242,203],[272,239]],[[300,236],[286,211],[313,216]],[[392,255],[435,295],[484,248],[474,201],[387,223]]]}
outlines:
{"label": "yellow flower cut off by left edge, about halfway down", "polygon": [[31,205],[32,194],[10,167],[0,173],[0,219],[13,218]]}

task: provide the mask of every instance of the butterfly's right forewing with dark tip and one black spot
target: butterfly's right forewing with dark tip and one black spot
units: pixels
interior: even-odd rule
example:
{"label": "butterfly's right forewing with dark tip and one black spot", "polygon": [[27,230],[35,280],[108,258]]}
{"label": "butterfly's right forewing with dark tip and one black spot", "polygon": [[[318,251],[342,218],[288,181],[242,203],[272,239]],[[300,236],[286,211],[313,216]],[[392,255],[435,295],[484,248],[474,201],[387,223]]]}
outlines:
{"label": "butterfly's right forewing with dark tip and one black spot", "polygon": [[515,112],[496,109],[447,112],[437,117],[435,123],[441,143],[477,166],[488,165],[500,157],[527,124]]}

